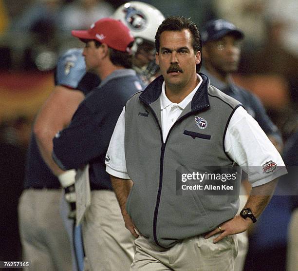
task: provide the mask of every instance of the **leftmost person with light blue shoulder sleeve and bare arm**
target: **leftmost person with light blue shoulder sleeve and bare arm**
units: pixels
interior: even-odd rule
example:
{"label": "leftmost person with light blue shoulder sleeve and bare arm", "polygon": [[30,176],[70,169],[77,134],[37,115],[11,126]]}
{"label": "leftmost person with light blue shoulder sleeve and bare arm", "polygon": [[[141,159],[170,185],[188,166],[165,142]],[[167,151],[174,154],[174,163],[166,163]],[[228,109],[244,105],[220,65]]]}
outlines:
{"label": "leftmost person with light blue shoulder sleeve and bare arm", "polygon": [[[59,210],[63,195],[56,175],[64,174],[51,158],[52,138],[66,127],[93,87],[97,76],[87,73],[81,49],[63,54],[56,66],[55,88],[39,111],[28,149],[24,191],[19,201],[19,229],[23,259],[37,270],[81,270],[75,261],[72,237],[68,237]],[[64,177],[65,179],[66,177]],[[71,184],[69,185],[71,186]],[[74,218],[74,217],[73,217]],[[68,221],[68,223],[73,223]],[[70,225],[72,228],[72,226]],[[71,252],[72,251],[72,252]]]}

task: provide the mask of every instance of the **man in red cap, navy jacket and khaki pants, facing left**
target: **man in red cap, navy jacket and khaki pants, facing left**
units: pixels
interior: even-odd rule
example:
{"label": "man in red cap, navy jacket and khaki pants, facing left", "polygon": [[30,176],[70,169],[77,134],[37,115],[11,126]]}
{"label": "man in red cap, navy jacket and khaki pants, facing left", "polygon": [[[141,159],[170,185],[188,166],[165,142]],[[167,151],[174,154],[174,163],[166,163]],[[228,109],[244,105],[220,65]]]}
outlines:
{"label": "man in red cap, navy jacket and khaki pants, facing left", "polygon": [[118,116],[131,95],[142,90],[131,70],[133,37],[122,22],[105,18],[88,31],[72,31],[86,43],[86,68],[101,78],[99,86],[79,105],[70,125],[53,139],[53,158],[62,170],[89,163],[91,206],[82,222],[84,248],[91,270],[128,270],[133,237],[105,172],[105,154]]}

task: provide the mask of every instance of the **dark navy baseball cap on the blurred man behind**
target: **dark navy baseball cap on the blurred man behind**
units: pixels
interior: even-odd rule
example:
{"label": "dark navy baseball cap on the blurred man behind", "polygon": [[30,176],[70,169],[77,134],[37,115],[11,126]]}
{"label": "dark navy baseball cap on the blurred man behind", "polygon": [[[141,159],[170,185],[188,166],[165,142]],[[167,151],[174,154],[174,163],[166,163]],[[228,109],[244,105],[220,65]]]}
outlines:
{"label": "dark navy baseball cap on the blurred man behind", "polygon": [[244,34],[240,29],[237,29],[234,24],[224,19],[210,20],[201,30],[203,44],[209,40],[221,39],[227,34],[231,34],[237,39],[244,38]]}

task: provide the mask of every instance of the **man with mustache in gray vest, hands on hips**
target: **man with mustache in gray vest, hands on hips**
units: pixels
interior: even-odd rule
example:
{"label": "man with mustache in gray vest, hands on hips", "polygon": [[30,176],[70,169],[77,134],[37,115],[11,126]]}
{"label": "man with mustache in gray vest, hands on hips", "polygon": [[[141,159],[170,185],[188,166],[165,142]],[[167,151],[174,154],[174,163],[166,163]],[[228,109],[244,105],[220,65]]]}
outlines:
{"label": "man with mustache in gray vest, hands on hips", "polygon": [[[162,76],[126,103],[106,155],[125,225],[137,237],[131,270],[233,270],[235,234],[257,221],[284,163],[241,103],[196,73],[202,42],[192,21],[164,20],[155,46]],[[202,191],[203,180],[195,181],[214,174],[211,167],[237,176],[235,164],[253,186],[241,215],[239,191],[210,192],[212,178]],[[240,178],[222,182],[237,188]]]}

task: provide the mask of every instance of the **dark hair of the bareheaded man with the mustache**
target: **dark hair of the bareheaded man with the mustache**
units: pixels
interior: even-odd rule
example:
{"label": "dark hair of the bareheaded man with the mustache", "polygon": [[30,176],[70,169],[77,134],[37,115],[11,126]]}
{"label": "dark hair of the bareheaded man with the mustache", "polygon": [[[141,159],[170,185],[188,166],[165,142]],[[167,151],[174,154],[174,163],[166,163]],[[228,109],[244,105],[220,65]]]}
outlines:
{"label": "dark hair of the bareheaded man with the mustache", "polygon": [[[181,31],[184,29],[188,29],[190,33],[192,34],[192,47],[195,52],[201,52],[201,58],[202,58],[202,39],[200,31],[197,27],[197,25],[191,21],[190,19],[186,19],[181,16],[170,16],[167,19],[165,19],[161,25],[158,27],[156,35],[155,35],[155,48],[156,52],[159,53],[160,48],[160,35],[164,31]],[[197,65],[197,70],[199,71],[201,68],[201,64]]]}

